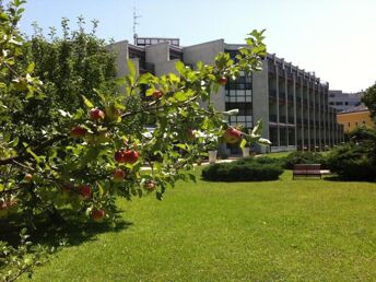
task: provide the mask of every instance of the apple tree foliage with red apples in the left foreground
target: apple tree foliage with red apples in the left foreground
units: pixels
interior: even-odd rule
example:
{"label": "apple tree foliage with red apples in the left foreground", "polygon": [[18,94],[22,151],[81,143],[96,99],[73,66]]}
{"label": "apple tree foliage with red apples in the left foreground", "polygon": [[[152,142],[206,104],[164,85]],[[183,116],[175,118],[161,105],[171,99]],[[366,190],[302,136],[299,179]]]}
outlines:
{"label": "apple tree foliage with red apples in the left foreground", "polygon": [[[92,73],[92,63],[106,55],[93,50],[95,59],[80,60],[90,44],[73,50],[73,45],[61,46],[63,40],[54,46],[43,38],[25,42],[17,30],[22,3],[14,0],[1,9],[0,216],[22,213],[32,226],[35,215],[48,214],[58,223],[67,211],[113,219],[116,197],[153,191],[162,199],[177,180],[193,178],[185,171],[205,157],[207,137],[221,137],[228,127],[211,95],[242,71],[259,70],[266,56],[262,32],[254,31],[237,62],[219,54],[213,66],[198,62],[191,69],[177,62],[178,75],[162,77],[138,75],[129,62],[129,75],[119,81],[121,94],[95,85],[103,73]],[[83,33],[74,36],[90,43]],[[37,54],[43,48],[54,58],[51,66]],[[80,75],[84,72],[90,73]],[[90,82],[83,80],[87,77]],[[149,117],[156,124],[153,131],[146,129]]]}

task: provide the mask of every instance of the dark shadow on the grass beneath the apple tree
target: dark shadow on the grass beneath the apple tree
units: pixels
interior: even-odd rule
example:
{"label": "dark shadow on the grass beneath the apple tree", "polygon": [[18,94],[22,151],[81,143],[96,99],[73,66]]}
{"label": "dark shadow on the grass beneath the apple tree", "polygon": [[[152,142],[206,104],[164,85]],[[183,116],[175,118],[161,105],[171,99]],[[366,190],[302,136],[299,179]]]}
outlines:
{"label": "dark shadow on the grass beneath the apple tree", "polygon": [[[94,222],[73,216],[64,219],[66,221],[59,224],[43,218],[36,219],[36,228],[27,228],[31,242],[46,247],[77,246],[87,240],[95,240],[98,234],[120,232],[132,225],[131,222],[124,220],[117,220],[114,224],[108,221]],[[0,240],[17,246],[20,244],[19,234],[23,227],[26,226],[20,224],[20,215],[9,216],[7,221],[0,220]]]}

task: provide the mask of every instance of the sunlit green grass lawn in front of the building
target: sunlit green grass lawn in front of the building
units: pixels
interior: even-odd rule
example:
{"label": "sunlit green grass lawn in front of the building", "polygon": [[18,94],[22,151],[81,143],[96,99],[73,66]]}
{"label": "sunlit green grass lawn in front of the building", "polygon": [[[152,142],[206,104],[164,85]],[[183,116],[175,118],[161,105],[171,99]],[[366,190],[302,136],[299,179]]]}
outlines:
{"label": "sunlit green grass lawn in front of the building", "polygon": [[63,248],[34,280],[375,281],[376,184],[291,176],[119,200],[127,227]]}

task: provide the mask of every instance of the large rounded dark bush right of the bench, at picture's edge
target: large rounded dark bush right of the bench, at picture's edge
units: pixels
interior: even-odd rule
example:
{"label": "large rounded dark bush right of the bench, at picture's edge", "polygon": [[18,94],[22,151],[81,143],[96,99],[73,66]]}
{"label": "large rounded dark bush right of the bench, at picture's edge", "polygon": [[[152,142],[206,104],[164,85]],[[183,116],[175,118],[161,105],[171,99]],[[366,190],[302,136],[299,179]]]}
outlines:
{"label": "large rounded dark bush right of the bench, at picture's edge", "polygon": [[376,180],[375,157],[366,146],[350,143],[328,155],[328,167],[340,177],[351,180]]}

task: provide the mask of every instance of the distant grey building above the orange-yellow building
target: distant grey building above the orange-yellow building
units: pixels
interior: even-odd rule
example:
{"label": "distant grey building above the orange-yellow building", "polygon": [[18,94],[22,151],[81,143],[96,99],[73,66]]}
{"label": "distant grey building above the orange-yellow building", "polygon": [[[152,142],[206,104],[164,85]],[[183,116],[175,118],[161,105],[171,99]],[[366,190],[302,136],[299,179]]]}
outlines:
{"label": "distant grey building above the orange-yellow building", "polygon": [[363,92],[343,93],[341,90],[329,90],[329,106],[346,110],[361,105]]}

